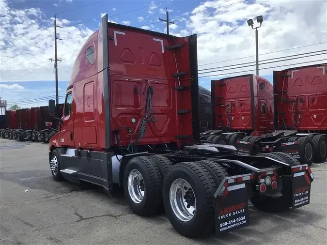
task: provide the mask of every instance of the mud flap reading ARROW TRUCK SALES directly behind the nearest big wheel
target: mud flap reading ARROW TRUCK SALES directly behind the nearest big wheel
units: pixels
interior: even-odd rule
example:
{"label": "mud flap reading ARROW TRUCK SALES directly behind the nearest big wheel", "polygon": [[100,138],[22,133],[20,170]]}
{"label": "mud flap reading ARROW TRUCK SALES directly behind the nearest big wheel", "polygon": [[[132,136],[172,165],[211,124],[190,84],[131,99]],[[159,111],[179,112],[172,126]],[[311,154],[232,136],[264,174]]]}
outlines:
{"label": "mud flap reading ARROW TRUCK SALES directly behind the nearest big wheel", "polygon": [[219,185],[215,199],[216,234],[237,230],[249,224],[248,199],[253,174],[225,177]]}

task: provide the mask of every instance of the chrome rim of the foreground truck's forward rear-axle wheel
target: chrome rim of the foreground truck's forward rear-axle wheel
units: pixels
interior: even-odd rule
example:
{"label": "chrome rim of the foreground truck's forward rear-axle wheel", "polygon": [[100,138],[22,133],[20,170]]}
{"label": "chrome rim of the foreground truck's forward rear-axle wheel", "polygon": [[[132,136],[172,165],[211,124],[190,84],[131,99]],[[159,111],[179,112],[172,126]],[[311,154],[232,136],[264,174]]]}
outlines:
{"label": "chrome rim of the foreground truck's forward rear-axle wheel", "polygon": [[145,185],[141,173],[133,169],[130,171],[127,180],[128,194],[133,202],[140,203],[144,198]]}

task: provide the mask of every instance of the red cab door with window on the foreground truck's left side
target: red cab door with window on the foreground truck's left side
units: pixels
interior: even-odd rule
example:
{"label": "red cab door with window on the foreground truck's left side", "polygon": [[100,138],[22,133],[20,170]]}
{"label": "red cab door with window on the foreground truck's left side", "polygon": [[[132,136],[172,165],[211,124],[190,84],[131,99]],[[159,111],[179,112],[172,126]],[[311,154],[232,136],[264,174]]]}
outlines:
{"label": "red cab door with window on the foreground truck's left side", "polygon": [[61,123],[61,132],[59,135],[59,140],[62,146],[74,147],[74,113],[72,111],[73,104],[73,91],[68,90],[65,98],[65,103],[63,107],[63,116]]}

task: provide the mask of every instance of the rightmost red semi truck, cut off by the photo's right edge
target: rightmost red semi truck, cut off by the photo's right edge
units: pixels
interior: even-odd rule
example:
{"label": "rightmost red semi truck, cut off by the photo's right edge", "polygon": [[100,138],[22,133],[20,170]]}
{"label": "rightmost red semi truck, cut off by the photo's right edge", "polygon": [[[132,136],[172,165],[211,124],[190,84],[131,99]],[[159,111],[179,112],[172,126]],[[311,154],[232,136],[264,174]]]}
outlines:
{"label": "rightmost red semi truck, cut off by the photo's right edge", "polygon": [[308,164],[327,158],[327,64],[273,72],[272,134],[243,138],[236,148],[243,154],[280,151]]}

